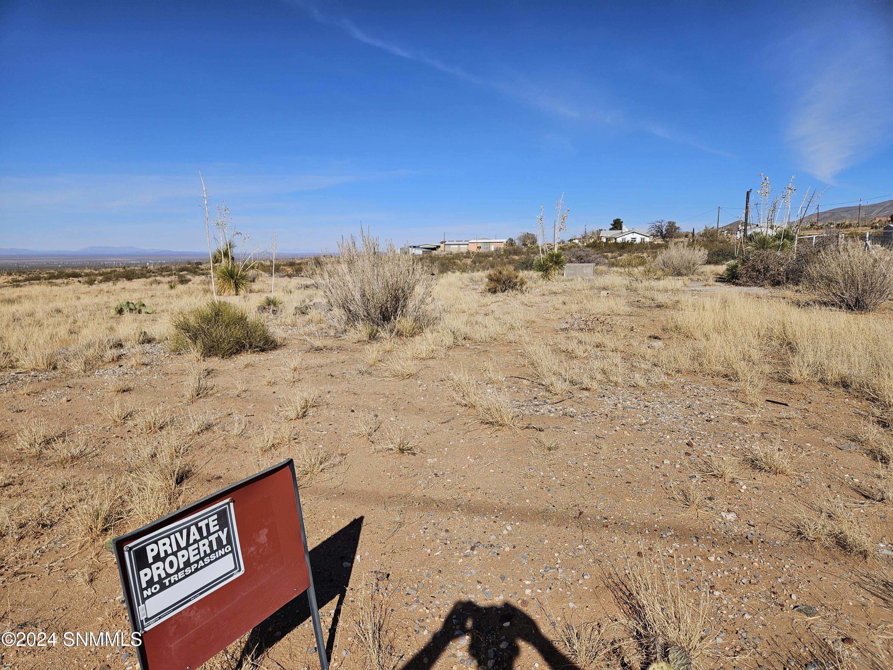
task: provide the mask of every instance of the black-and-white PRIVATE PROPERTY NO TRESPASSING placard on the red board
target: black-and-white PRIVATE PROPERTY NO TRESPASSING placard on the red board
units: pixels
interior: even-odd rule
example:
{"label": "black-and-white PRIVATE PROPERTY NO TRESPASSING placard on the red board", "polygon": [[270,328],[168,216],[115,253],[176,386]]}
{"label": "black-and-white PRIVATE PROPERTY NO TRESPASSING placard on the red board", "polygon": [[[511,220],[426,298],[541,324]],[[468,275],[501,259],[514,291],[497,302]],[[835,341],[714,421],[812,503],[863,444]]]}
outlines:
{"label": "black-and-white PRIVATE PROPERTY NO TRESPASSING placard on the red board", "polygon": [[232,499],[132,542],[124,558],[146,632],[245,572]]}

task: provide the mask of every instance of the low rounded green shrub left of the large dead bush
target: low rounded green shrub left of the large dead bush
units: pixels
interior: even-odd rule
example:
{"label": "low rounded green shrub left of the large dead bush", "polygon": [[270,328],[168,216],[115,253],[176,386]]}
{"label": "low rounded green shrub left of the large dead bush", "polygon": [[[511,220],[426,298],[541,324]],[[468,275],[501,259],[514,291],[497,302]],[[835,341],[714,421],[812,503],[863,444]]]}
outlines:
{"label": "low rounded green shrub left of the large dead bush", "polygon": [[268,351],[280,341],[266,324],[225,302],[181,312],[173,319],[173,352],[193,349],[201,356],[229,358],[246,351]]}

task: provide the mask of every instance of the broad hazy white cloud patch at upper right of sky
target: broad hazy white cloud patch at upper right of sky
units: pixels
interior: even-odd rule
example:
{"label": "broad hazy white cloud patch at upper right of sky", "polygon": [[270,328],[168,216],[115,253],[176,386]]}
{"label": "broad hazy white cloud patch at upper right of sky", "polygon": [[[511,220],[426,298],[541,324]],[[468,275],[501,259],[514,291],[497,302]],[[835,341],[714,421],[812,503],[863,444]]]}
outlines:
{"label": "broad hazy white cloud patch at upper right of sky", "polygon": [[810,81],[793,101],[788,140],[806,170],[831,183],[893,137],[893,54],[872,26],[835,25],[819,34],[829,39],[800,52]]}

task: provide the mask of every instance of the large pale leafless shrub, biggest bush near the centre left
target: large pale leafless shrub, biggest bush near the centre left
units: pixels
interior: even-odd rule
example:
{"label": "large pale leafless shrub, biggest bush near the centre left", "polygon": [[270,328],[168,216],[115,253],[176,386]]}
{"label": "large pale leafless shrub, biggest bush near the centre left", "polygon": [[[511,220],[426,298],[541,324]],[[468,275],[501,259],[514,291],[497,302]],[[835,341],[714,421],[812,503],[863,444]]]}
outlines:
{"label": "large pale leafless shrub, biggest bush near the centre left", "polygon": [[[318,259],[314,280],[344,328],[368,323],[394,331],[398,321],[423,330],[435,321],[434,282],[419,259],[399,253],[363,230],[338,242],[338,255]],[[401,326],[405,331],[406,326]]]}

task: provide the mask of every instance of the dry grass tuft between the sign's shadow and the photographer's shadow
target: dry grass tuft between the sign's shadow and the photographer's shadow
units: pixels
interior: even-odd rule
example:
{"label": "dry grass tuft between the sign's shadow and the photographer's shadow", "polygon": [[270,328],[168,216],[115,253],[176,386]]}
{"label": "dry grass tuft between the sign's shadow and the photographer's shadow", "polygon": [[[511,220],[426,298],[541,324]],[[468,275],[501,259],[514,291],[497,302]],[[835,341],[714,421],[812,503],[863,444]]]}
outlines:
{"label": "dry grass tuft between the sign's shadow and the photographer's shadow", "polygon": [[396,670],[403,655],[388,635],[390,614],[394,610],[388,584],[364,579],[358,594],[359,612],[354,637],[363,657],[363,670]]}

